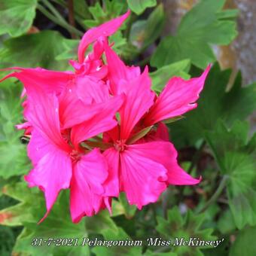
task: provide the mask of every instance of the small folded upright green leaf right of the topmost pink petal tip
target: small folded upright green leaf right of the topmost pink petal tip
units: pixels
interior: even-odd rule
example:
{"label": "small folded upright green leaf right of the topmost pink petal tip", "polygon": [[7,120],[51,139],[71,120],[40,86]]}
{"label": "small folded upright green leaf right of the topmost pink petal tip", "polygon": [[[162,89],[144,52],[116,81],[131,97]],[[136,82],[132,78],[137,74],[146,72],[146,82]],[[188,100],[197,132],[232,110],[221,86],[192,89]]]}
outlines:
{"label": "small folded upright green leaf right of the topmost pink petal tip", "polygon": [[149,15],[148,20],[138,20],[133,23],[130,31],[130,43],[144,50],[159,38],[163,30],[163,25],[163,5],[158,5]]}

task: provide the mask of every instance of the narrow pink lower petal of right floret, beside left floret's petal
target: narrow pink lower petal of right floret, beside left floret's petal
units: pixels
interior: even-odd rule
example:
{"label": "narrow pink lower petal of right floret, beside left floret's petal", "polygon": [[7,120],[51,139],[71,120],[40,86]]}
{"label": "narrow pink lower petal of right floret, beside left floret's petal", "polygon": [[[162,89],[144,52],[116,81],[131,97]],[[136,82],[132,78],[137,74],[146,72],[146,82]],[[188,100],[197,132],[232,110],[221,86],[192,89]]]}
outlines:
{"label": "narrow pink lower petal of right floret, beside left floret's petal", "polygon": [[105,196],[118,197],[119,189],[119,152],[114,148],[104,151],[103,156],[108,162],[108,178],[104,183]]}

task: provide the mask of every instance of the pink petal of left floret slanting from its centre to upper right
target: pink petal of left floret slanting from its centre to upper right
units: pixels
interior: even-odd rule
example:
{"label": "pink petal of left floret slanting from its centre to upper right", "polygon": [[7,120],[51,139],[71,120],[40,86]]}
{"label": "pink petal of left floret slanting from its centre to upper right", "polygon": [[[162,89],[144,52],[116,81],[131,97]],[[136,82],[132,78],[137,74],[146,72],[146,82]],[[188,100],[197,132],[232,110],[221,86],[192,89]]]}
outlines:
{"label": "pink petal of left floret slanting from its centre to upper right", "polygon": [[102,103],[102,108],[90,120],[72,127],[71,140],[78,145],[86,139],[111,130],[117,125],[114,114],[123,104],[123,96],[114,96],[108,102]]}

